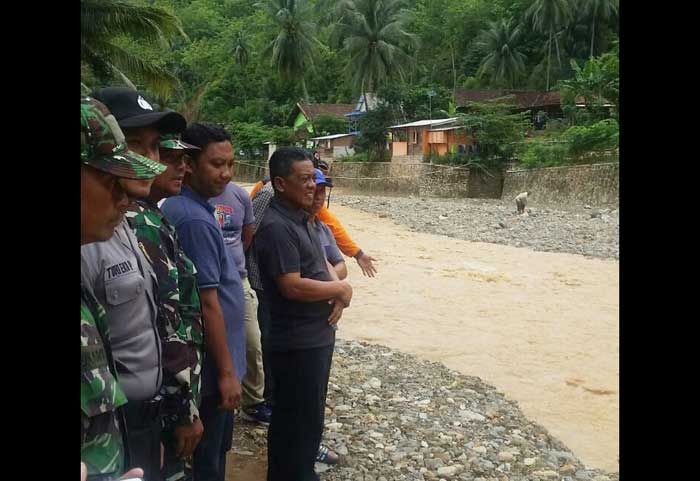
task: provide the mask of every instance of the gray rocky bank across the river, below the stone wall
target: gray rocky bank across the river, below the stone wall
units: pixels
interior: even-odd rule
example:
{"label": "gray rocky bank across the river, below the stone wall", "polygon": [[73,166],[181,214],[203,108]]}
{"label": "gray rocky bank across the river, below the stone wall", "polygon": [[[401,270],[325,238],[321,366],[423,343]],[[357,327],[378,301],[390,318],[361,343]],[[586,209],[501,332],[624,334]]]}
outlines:
{"label": "gray rocky bank across the river, below the stone wall", "polygon": [[619,258],[617,209],[531,206],[525,214],[518,215],[515,202],[498,199],[351,195],[337,195],[334,199],[341,205],[379,214],[419,232],[537,251]]}

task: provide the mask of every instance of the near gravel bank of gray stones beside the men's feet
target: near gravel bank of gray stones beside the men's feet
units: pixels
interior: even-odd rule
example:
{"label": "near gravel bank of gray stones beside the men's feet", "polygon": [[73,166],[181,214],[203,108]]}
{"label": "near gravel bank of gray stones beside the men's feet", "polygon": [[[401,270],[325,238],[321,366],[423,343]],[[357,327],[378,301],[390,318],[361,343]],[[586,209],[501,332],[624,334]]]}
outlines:
{"label": "near gravel bank of gray stones beside the men's feet", "polygon": [[[237,450],[264,442],[263,429],[238,424]],[[354,341],[336,344],[324,444],[343,457],[317,464],[328,481],[619,479],[586,468],[479,378]]]}

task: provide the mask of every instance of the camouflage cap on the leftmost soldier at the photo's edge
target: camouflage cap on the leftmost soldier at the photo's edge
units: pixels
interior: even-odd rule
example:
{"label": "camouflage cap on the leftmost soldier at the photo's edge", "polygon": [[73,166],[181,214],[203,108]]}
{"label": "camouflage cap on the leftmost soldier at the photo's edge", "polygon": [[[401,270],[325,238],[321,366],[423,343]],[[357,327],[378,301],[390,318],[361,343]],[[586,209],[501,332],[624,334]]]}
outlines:
{"label": "camouflage cap on the leftmost soldier at the photo's edge", "polygon": [[80,99],[80,161],[127,179],[151,179],[167,168],[130,151],[117,120],[91,97]]}

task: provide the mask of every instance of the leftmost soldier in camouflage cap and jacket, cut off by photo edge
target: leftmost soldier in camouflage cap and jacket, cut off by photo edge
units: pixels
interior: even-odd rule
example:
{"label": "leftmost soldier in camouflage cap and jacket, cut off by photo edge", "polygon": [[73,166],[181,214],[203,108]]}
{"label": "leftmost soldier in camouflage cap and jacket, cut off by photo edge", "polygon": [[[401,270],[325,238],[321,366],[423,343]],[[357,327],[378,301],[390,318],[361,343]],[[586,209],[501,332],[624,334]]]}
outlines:
{"label": "leftmost soldier in camouflage cap and jacket, cut off by photo edge", "polygon": [[[85,245],[108,240],[121,222],[135,195],[121,179],[153,179],[164,168],[129,151],[114,117],[94,99],[81,98],[80,129],[80,244]],[[82,284],[80,346],[81,462],[90,480],[116,479],[124,469],[120,407],[126,404],[126,396],[111,355],[105,310]]]}

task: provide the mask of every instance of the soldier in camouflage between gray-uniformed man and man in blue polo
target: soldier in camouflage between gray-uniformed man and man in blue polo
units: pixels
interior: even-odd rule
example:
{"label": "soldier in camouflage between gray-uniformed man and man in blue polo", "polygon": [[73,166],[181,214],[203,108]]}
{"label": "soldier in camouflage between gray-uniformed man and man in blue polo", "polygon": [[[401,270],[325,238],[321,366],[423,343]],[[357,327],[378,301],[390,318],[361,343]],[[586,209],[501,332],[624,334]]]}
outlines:
{"label": "soldier in camouflage between gray-uniformed man and man in blue polo", "polygon": [[164,375],[163,474],[167,481],[190,477],[191,470],[185,470],[183,458],[192,455],[203,431],[197,409],[203,333],[196,269],[182,251],[175,229],[158,208],[158,201],[180,192],[187,149],[198,147],[182,142],[177,134],[161,134],[160,161],[167,170],[156,177],[149,197],[132,203],[126,213],[158,277]]}

